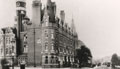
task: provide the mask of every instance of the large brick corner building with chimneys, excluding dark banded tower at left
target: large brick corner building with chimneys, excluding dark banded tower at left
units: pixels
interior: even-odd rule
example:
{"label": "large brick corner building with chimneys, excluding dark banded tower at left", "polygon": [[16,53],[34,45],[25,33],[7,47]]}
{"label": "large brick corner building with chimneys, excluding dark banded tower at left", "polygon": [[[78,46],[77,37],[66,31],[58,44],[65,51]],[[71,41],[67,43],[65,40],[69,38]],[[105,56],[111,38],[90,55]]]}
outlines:
{"label": "large brick corner building with chimneys, excluding dark banded tower at left", "polygon": [[22,54],[25,54],[24,35],[27,34],[27,65],[58,66],[73,63],[78,41],[77,33],[75,34],[74,30],[63,21],[65,14],[61,15],[64,17],[61,18],[62,21],[56,20],[54,2],[47,3],[41,21],[41,5],[38,3],[34,6],[36,2],[38,3],[33,1],[32,25],[20,34]]}

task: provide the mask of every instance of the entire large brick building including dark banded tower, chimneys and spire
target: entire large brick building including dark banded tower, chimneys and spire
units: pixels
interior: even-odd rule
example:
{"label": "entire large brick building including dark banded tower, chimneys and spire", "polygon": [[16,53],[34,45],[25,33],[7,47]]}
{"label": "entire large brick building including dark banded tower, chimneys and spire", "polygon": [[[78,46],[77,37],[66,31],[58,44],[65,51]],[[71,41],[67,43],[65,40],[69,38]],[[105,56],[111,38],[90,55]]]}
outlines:
{"label": "entire large brick building including dark banded tower, chimneys and spire", "polygon": [[[32,20],[26,15],[25,0],[16,1],[16,56],[28,66],[58,67],[74,63],[78,35],[72,19],[65,22],[65,12],[56,16],[56,4],[47,0],[42,9],[40,0],[33,0]],[[0,34],[2,36],[2,34]],[[1,46],[2,47],[2,46]]]}

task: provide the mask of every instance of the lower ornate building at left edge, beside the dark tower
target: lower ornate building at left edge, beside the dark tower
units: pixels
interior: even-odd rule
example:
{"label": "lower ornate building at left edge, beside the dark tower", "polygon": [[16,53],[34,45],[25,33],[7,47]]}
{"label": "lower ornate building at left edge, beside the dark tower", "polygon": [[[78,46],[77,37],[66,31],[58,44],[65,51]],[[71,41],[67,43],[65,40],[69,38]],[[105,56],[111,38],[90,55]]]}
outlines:
{"label": "lower ornate building at left edge, beside the dark tower", "polygon": [[[16,58],[16,34],[13,28],[3,28],[0,31],[0,57],[6,58],[10,62],[12,57]],[[12,55],[14,54],[14,55]]]}

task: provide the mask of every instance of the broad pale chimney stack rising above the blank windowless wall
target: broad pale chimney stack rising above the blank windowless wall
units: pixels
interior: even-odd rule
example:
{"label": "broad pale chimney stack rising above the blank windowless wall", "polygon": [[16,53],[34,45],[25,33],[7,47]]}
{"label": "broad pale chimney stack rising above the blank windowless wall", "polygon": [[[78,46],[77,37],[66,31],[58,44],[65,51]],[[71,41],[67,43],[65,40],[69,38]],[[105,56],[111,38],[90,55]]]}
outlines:
{"label": "broad pale chimney stack rising above the blank windowless wall", "polygon": [[41,1],[34,0],[32,4],[32,22],[34,27],[41,26]]}

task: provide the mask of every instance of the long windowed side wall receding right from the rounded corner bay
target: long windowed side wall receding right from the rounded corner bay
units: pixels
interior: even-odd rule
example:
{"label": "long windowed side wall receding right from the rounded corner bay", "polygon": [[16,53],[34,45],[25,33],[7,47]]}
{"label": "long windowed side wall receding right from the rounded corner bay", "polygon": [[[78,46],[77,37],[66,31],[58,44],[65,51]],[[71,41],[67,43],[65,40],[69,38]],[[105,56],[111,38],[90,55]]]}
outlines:
{"label": "long windowed side wall receding right from the rounded corner bay", "polygon": [[[70,34],[67,29],[59,28],[58,40],[59,40],[59,57],[62,62],[73,62],[75,52],[75,38],[74,35]],[[61,64],[63,64],[61,62]]]}

